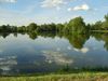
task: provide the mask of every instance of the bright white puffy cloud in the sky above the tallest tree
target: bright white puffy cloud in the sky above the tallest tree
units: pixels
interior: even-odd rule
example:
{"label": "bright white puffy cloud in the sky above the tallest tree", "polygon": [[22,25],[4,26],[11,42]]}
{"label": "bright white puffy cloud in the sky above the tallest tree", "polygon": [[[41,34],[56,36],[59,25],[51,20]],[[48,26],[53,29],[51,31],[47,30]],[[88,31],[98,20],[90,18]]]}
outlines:
{"label": "bright white puffy cloud in the sky above the tallest tree", "polygon": [[87,4],[77,5],[75,8],[69,8],[68,11],[89,11],[90,6]]}

